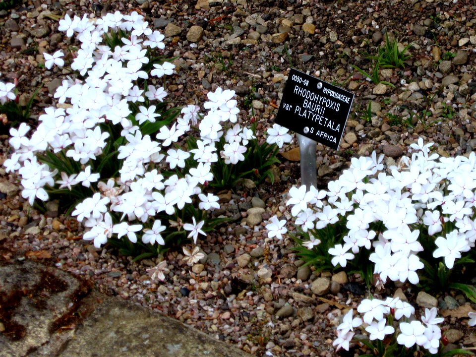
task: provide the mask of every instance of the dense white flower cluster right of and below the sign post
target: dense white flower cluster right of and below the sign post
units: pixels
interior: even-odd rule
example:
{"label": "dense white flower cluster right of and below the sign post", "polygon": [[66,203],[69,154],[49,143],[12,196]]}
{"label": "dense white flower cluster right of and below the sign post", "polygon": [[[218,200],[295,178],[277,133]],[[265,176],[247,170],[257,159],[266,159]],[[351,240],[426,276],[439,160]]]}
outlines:
{"label": "dense white flower cluster right of and below the sign post", "polygon": [[[446,266],[453,268],[455,260],[475,246],[476,154],[439,158],[429,155],[431,145],[424,145],[421,138],[412,144],[412,158],[403,157],[399,167],[391,168],[392,175],[382,171],[383,155],[377,159],[374,152],[371,157],[353,158],[350,168],[329,182],[327,191],[291,188],[287,204],[293,206],[296,224],[307,232],[347,216],[344,244],[329,249],[333,265],[345,267],[361,248],[373,246],[370,260],[383,282],[390,278],[413,284],[419,281],[416,271],[423,268],[417,256],[423,250],[418,241],[421,225],[430,236],[451,225],[454,230],[435,238],[433,256],[444,257]],[[384,229],[375,232],[370,224],[377,222]],[[268,236],[281,237],[286,232],[283,226],[268,225]]]}

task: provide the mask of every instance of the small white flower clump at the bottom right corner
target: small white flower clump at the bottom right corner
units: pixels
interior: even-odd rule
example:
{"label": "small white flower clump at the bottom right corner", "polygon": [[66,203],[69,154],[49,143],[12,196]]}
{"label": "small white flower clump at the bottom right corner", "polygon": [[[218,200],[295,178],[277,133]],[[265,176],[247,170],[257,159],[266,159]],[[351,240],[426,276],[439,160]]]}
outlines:
{"label": "small white flower clump at the bottom right corner", "polygon": [[[385,335],[395,333],[395,327],[389,321],[400,320],[406,317],[405,322],[398,325],[399,334],[397,343],[411,348],[415,344],[428,350],[431,354],[438,353],[440,346],[441,330],[437,324],[444,321],[442,317],[436,317],[436,307],[425,308],[425,315],[421,316],[421,321],[415,318],[415,308],[408,302],[400,298],[387,297],[385,300],[364,299],[357,307],[357,311],[363,314],[363,321],[359,317],[353,318],[354,310],[350,310],[337,327],[337,339],[333,346],[337,346],[349,351],[349,344],[354,338],[354,329],[366,324],[365,331],[369,334],[369,340],[383,340]],[[391,315],[391,319],[385,316]]]}

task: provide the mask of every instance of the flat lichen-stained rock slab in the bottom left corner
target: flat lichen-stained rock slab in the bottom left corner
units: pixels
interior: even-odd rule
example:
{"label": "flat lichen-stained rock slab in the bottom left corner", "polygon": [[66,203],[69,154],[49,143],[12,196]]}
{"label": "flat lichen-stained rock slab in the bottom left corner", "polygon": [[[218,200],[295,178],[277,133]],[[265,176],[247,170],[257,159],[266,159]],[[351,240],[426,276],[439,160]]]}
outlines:
{"label": "flat lichen-stained rock slab in the bottom left corner", "polygon": [[0,261],[0,346],[2,357],[250,356],[29,260]]}

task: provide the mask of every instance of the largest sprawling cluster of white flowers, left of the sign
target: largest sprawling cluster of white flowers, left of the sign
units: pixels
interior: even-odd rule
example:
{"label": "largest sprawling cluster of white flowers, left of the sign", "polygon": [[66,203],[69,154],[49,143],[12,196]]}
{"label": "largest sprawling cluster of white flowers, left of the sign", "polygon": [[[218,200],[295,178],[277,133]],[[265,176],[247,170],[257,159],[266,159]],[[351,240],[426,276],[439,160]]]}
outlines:
{"label": "largest sprawling cluster of white flowers, left of the sign", "polygon": [[[175,174],[167,175],[165,179],[160,170],[184,168],[190,153],[179,148],[171,148],[167,154],[162,151],[178,143],[180,137],[190,130],[190,125],[198,123],[199,108],[194,105],[183,108],[181,117],[171,127],[160,128],[155,141],[134,125],[129,107],[129,104],[138,106],[135,120],[139,125],[146,121],[155,122],[160,116],[155,113],[156,106],[147,108],[139,104],[145,102],[144,95],[150,102],[162,102],[167,92],[163,87],[153,85],[148,85],[147,90],[141,89],[136,83],[138,78],[149,78],[141,69],[149,62],[145,47],[163,49],[164,36],[159,31],[150,30],[147,22],[135,11],[124,16],[119,12],[107,14],[95,23],[86,16],[71,19],[66,15],[60,20],[59,28],[67,36],[77,34],[81,45],[71,68],[87,76],[84,82],[62,82],[54,96],[60,103],[68,100],[70,104],[64,105],[67,109],[47,108],[31,137],[27,136],[30,127],[25,123],[10,130],[12,137],[9,142],[14,152],[4,166],[7,172],[18,171],[21,175],[22,196],[33,204],[35,198],[48,200],[45,185],[54,186],[56,183],[69,190],[78,184],[90,187],[95,193],[77,204],[72,215],[90,228],[83,238],[93,240],[96,247],[106,243],[113,234],[136,242],[136,234],[140,231],[144,232],[141,236],[144,243],[164,244],[161,232],[166,227],[160,220],[150,221],[160,212],[175,214],[176,208],[180,210],[185,204],[192,203],[193,195],[198,195],[200,209],[219,208],[218,197],[203,194],[200,185],[213,179],[211,165],[218,161],[215,143],[224,134],[222,123],[235,123],[226,132],[228,143],[220,153],[226,163],[236,164],[243,160],[246,147],[241,144],[246,145],[254,138],[252,130],[241,128],[236,123],[239,110],[237,101],[233,100],[235,92],[218,88],[208,94],[210,101],[204,107],[209,112],[199,124],[198,148],[190,150],[197,165],[181,177]],[[123,45],[111,49],[102,44],[103,35],[109,30],[130,31],[130,37],[122,38]],[[145,36],[145,41],[141,36]],[[59,59],[59,54],[48,58],[53,62],[55,59]],[[175,65],[169,62],[154,64],[151,75],[170,75],[174,68]],[[91,163],[100,158],[111,136],[110,132],[103,130],[108,128],[106,124],[114,126],[122,136],[117,158],[104,159],[120,162],[118,178],[102,178],[99,173],[92,172]],[[68,175],[64,171],[52,171],[48,165],[37,161],[36,154],[45,151],[72,159],[80,172]],[[61,179],[56,178],[58,174]],[[111,212],[119,214],[120,222],[113,222]],[[136,224],[129,224],[133,221]],[[143,229],[144,224],[151,228]],[[199,234],[205,235],[201,230],[203,224],[203,221],[196,223],[193,217],[193,224],[180,223],[179,229],[183,226],[190,232],[188,237],[196,242]]]}

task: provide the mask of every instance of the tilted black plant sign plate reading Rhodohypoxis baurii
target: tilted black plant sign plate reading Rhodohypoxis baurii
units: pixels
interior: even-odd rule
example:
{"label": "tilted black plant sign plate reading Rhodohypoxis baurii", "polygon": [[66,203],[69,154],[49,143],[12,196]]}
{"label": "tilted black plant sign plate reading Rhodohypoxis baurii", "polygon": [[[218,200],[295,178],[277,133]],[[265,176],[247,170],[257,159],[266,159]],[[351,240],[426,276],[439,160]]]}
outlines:
{"label": "tilted black plant sign plate reading Rhodohypoxis baurii", "polygon": [[291,69],[276,122],[339,149],[354,94]]}

